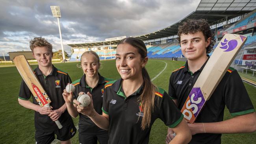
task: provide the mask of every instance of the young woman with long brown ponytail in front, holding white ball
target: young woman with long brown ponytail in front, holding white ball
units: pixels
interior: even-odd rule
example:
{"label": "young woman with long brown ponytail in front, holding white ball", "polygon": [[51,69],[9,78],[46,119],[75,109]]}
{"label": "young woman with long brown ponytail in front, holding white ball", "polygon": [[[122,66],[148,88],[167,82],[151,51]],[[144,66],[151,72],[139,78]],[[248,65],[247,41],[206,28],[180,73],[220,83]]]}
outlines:
{"label": "young woman with long brown ponytail in front, holding white ball", "polygon": [[108,144],[147,144],[157,118],[176,133],[170,143],[184,144],[191,139],[183,114],[163,89],[151,83],[145,68],[147,61],[143,41],[133,37],[123,39],[116,53],[121,79],[105,84],[102,115],[95,112],[92,102],[88,107],[77,107],[98,127],[109,130]]}

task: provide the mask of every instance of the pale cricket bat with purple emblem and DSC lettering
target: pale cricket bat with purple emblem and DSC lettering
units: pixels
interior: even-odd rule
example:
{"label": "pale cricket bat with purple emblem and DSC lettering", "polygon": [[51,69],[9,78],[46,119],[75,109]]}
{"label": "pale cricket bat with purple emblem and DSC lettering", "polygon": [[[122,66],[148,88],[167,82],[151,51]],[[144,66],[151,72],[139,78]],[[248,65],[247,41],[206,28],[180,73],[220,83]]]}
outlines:
{"label": "pale cricket bat with purple emblem and DSC lettering", "polygon": [[221,39],[182,107],[181,112],[187,122],[195,122],[246,40],[247,37],[237,34],[226,34]]}

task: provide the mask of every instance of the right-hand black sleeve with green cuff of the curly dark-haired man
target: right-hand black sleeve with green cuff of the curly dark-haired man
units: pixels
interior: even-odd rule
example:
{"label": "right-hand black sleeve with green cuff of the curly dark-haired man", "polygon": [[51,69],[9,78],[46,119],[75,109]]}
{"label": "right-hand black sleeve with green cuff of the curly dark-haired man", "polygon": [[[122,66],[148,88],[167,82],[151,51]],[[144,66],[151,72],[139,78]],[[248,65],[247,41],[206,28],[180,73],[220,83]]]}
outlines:
{"label": "right-hand black sleeve with green cuff of the curly dark-haired man", "polygon": [[224,87],[224,100],[232,116],[254,112],[245,85],[236,70],[231,72]]}

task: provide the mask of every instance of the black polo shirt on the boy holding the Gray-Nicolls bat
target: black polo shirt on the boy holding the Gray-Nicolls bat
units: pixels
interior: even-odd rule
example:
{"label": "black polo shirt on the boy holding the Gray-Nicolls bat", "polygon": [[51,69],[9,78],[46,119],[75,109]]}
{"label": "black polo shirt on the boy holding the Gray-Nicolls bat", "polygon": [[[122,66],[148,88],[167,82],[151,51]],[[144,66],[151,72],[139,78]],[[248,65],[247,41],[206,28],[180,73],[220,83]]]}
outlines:
{"label": "black polo shirt on the boy holding the Gray-Nicolls bat", "polygon": [[[54,66],[52,68],[52,72],[48,76],[44,76],[38,66],[35,68],[34,72],[52,101],[50,105],[53,107],[53,110],[62,107],[62,105],[65,104],[62,96],[63,90],[65,89],[67,83],[71,83],[69,75]],[[26,83],[22,80],[19,98],[22,100],[29,100],[31,96],[32,93],[28,89]],[[34,104],[39,105],[34,96],[32,96],[32,99]],[[59,117],[59,122],[62,124],[62,126],[66,126],[70,122],[73,122],[67,110],[61,114]],[[57,130],[58,126],[47,114],[40,114],[39,112],[35,111],[35,129],[37,131],[49,132]]]}

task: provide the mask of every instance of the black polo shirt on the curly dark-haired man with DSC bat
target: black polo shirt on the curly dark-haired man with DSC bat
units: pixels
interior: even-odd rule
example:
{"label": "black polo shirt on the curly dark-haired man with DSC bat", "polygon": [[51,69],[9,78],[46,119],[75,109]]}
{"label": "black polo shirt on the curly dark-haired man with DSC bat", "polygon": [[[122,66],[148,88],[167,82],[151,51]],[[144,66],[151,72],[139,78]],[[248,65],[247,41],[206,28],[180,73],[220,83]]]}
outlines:
{"label": "black polo shirt on the curly dark-haired man with DSC bat", "polygon": [[[208,57],[209,59],[209,57]],[[208,61],[208,60],[207,60]],[[174,70],[169,81],[169,95],[177,99],[178,109],[182,109],[189,92],[202,72],[204,65],[194,74],[189,71],[187,62],[184,66]],[[234,68],[229,68],[219,85],[206,101],[204,108],[195,122],[223,121],[224,108],[228,108],[232,116],[254,112],[254,107],[243,82]],[[191,144],[220,144],[221,134],[199,133],[192,136]]]}

